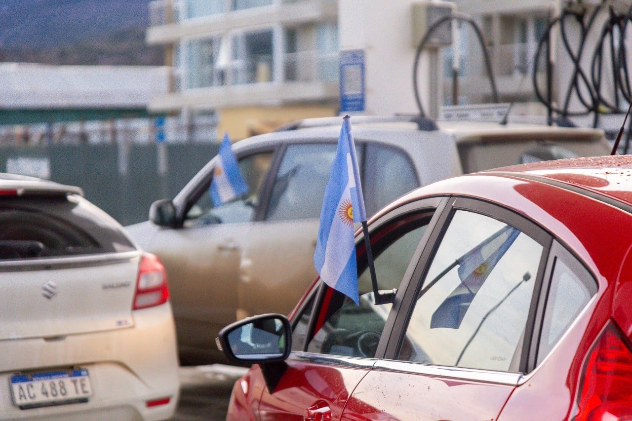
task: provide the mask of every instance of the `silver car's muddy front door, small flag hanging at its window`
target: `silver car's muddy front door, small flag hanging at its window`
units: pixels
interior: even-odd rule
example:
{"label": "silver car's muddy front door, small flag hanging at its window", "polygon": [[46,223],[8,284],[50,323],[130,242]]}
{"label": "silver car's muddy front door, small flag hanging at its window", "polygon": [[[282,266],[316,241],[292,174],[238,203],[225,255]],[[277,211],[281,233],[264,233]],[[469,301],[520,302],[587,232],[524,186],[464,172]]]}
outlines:
{"label": "silver car's muddy front door, small flag hanging at its window", "polygon": [[211,166],[181,202],[182,228],[156,229],[146,247],[167,270],[181,356],[216,352],[215,333],[236,319],[241,249],[252,229],[273,152],[240,154],[238,163],[250,191],[217,207],[209,195]]}

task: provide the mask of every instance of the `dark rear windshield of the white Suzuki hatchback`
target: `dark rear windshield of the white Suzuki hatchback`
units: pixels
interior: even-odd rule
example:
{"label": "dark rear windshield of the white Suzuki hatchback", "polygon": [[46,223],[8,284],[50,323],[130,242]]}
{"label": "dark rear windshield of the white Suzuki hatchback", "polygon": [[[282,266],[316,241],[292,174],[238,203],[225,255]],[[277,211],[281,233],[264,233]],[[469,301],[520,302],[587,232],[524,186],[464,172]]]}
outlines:
{"label": "dark rear windshield of the white Suzuki hatchback", "polygon": [[0,198],[0,259],[131,250],[121,226],[78,195]]}

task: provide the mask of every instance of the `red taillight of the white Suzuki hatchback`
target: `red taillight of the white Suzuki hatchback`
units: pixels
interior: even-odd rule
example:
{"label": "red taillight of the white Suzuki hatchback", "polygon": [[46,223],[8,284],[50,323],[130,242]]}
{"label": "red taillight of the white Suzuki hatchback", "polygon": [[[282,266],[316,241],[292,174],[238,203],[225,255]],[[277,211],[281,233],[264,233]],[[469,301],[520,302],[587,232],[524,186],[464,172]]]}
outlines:
{"label": "red taillight of the white Suzuki hatchback", "polygon": [[166,303],[168,299],[167,272],[157,256],[145,253],[138,268],[138,281],[132,309],[154,307],[154,305]]}

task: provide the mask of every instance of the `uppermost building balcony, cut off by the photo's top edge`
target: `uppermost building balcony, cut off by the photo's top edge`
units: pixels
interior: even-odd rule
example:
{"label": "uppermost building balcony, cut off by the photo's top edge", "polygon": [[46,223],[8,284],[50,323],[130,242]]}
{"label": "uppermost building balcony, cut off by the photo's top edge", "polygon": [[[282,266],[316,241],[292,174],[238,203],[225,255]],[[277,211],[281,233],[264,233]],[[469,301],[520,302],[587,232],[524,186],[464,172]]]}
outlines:
{"label": "uppermost building balcony, cut off by the photo's top edge", "polygon": [[[186,7],[178,6],[176,0],[150,3],[150,27],[145,35],[148,44],[171,44],[183,37],[204,37],[273,23],[300,25],[335,20],[337,16],[335,0],[189,0],[183,4]],[[229,10],[227,4],[233,9]]]}

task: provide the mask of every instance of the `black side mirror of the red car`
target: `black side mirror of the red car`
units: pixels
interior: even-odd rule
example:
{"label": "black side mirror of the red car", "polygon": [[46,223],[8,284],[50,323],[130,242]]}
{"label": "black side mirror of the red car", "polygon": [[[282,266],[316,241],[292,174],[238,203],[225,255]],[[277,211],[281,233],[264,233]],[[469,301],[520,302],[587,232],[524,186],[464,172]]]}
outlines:
{"label": "black side mirror of the red car", "polygon": [[263,314],[224,327],[215,339],[217,348],[238,363],[258,363],[270,393],[279,384],[288,365],[292,330],[287,317]]}

